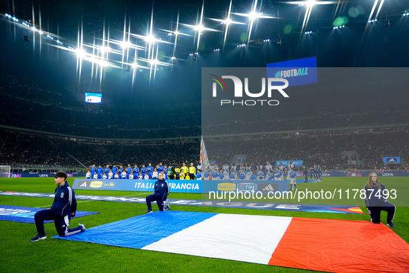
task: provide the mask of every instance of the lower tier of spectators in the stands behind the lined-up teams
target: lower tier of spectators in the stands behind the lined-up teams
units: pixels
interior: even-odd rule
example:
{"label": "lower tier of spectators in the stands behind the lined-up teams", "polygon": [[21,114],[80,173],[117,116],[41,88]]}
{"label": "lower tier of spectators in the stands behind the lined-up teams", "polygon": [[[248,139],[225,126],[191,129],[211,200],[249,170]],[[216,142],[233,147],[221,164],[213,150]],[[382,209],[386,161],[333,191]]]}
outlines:
{"label": "lower tier of spectators in the stands behind the lined-up teams", "polygon": [[[171,166],[199,161],[199,139],[189,141],[79,141],[79,139],[46,136],[29,132],[0,130],[1,164],[48,164],[61,166],[86,166],[92,164],[158,164]],[[408,128],[399,132],[360,134],[299,134],[237,140],[206,140],[210,161],[223,166],[247,163],[256,170],[266,161],[303,160],[307,167],[322,166],[322,170],[348,168],[382,168],[383,157],[401,157],[409,162]],[[356,161],[345,160],[344,151],[354,151]],[[238,160],[237,155],[242,155]],[[243,158],[244,156],[244,158]],[[274,164],[273,164],[274,165]],[[299,168],[296,168],[299,170]]]}

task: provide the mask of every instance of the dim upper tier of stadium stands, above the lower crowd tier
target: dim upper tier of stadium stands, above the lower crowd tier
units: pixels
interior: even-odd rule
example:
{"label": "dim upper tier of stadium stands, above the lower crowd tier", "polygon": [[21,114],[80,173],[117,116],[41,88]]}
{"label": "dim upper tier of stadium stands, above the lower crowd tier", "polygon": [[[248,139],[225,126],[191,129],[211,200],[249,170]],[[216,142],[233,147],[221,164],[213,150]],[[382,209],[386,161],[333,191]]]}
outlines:
{"label": "dim upper tier of stadium stands, above the lower crowd tier", "polygon": [[189,107],[181,111],[167,111],[166,105],[141,109],[127,102],[122,106],[84,105],[62,91],[23,85],[10,75],[0,81],[0,87],[3,97],[1,125],[106,139],[303,132],[335,130],[339,127],[403,125],[409,121],[409,108],[397,107],[403,101],[370,100],[372,106],[361,109],[359,102],[368,100],[367,94],[356,94],[353,100],[343,98],[343,95],[333,100],[315,96],[312,104],[300,106],[297,101],[293,105],[290,102],[285,111],[279,109],[271,114],[255,112],[237,119],[226,117],[223,113],[212,113],[215,116],[212,118],[203,112],[202,124],[200,105],[196,105],[196,110]]}

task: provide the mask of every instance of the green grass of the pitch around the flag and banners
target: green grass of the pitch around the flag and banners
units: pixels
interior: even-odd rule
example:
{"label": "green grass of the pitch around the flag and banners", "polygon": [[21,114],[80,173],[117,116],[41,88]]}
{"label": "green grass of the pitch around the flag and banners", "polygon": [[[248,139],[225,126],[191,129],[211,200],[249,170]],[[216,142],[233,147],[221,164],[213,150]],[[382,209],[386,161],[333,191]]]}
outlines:
{"label": "green grass of the pitch around the flag and banners", "polygon": [[[381,182],[386,188],[397,189],[400,192],[408,191],[409,183],[405,177],[381,177]],[[363,188],[367,177],[325,177],[324,182],[311,184],[298,184],[299,191],[308,188],[309,191],[333,191],[334,187]],[[69,184],[73,179],[69,178]],[[55,184],[52,178],[12,178],[0,179],[0,191],[21,191],[32,193],[53,193]],[[150,193],[135,191],[89,191],[76,190],[76,195],[109,195],[109,196],[137,196],[145,197]],[[402,196],[408,200],[409,195]],[[171,198],[200,200],[201,194],[171,193]],[[342,202],[332,200],[331,204]],[[359,200],[357,200],[359,201]],[[397,202],[390,200],[393,204]],[[398,201],[398,200],[397,200]],[[48,209],[53,200],[40,197],[16,197],[0,195],[0,204],[9,206],[44,207]],[[399,201],[399,202],[403,202]],[[283,202],[284,203],[284,202]],[[307,202],[306,202],[307,203]],[[328,202],[327,202],[328,203]],[[316,203],[317,204],[317,203]],[[322,202],[322,204],[326,204]],[[202,211],[212,213],[237,213],[254,215],[276,215],[303,218],[323,218],[342,220],[370,220],[363,202],[356,202],[361,206],[365,215],[338,214],[338,213],[307,213],[297,211],[268,211],[255,209],[228,209],[215,207],[175,206],[177,211]],[[157,207],[154,205],[154,211]],[[103,202],[78,200],[78,209],[82,211],[99,211],[100,214],[89,215],[85,218],[71,220],[71,227],[83,222],[85,227],[96,227],[101,224],[115,222],[135,215],[144,214],[147,210],[145,204],[130,204],[120,202]],[[386,213],[383,212],[381,220],[385,223]],[[409,208],[398,206],[393,229],[403,240],[409,242]],[[150,252],[140,249],[127,249],[82,242],[51,239],[57,235],[54,224],[45,224],[47,239],[31,243],[29,240],[36,234],[35,225],[18,222],[0,222],[0,256],[1,272],[39,272],[39,271],[81,271],[81,272],[302,272],[293,268],[273,267],[270,265],[257,265],[238,261],[227,261],[215,258],[202,258],[180,254]]]}

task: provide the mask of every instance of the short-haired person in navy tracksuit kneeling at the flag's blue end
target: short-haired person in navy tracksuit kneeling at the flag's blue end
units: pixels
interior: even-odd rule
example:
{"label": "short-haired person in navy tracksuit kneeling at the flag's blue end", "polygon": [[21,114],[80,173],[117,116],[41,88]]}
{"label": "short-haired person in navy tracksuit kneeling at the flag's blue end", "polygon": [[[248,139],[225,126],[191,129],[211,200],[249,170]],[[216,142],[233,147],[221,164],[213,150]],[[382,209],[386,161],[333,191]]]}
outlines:
{"label": "short-haired person in navy tracksuit kneeling at the flag's blue end", "polygon": [[54,220],[55,228],[61,237],[78,234],[85,230],[84,224],[80,224],[73,229],[68,228],[71,218],[75,216],[75,211],[77,211],[77,200],[75,200],[73,189],[66,182],[66,173],[56,173],[54,177],[54,182],[57,184],[54,202],[50,209],[44,209],[35,213],[34,220],[35,227],[37,227],[37,236],[31,239],[31,242],[47,238],[44,231],[44,220]]}

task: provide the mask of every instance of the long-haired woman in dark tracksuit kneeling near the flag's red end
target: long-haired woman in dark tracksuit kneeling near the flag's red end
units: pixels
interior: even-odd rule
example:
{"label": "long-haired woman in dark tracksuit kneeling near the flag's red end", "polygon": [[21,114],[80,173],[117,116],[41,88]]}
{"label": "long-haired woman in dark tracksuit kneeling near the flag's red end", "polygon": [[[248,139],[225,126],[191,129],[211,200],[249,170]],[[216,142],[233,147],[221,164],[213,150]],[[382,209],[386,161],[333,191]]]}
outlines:
{"label": "long-haired woman in dark tracksuit kneeling near the flag's red end", "polygon": [[392,220],[396,207],[386,200],[384,196],[385,185],[379,182],[376,173],[370,173],[367,183],[363,187],[365,190],[365,206],[371,215],[371,222],[379,224],[381,222],[381,211],[387,211],[386,225],[388,227],[395,227]]}

